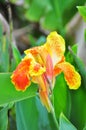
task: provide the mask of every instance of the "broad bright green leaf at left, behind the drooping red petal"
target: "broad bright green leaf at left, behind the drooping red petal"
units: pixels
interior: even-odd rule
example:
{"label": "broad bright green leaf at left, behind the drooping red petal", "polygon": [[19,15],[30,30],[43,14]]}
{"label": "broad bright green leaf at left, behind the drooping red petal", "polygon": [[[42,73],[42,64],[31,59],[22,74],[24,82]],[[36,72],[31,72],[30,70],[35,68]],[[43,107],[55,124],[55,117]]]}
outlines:
{"label": "broad bright green leaf at left, behind the drooping red petal", "polygon": [[11,83],[10,76],[11,73],[0,73],[0,106],[36,95],[36,84],[31,84],[25,92],[17,91]]}

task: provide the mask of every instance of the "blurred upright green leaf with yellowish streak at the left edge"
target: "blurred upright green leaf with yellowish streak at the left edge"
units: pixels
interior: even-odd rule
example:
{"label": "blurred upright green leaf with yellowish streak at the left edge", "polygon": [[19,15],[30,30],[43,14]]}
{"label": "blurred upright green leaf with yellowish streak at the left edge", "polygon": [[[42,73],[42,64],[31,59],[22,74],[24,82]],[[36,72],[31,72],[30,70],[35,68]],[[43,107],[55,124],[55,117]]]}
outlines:
{"label": "blurred upright green leaf with yellowish streak at the left edge", "polygon": [[9,71],[9,42],[0,23],[0,72]]}

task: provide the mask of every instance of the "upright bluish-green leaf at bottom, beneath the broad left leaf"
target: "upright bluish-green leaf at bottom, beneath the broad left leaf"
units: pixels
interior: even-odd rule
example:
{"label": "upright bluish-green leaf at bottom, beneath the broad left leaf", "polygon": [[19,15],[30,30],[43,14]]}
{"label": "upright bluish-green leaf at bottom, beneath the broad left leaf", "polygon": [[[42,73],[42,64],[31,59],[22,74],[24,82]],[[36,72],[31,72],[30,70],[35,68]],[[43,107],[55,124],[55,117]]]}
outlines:
{"label": "upright bluish-green leaf at bottom, beneath the broad left leaf", "polygon": [[17,130],[38,130],[38,110],[35,98],[16,103]]}

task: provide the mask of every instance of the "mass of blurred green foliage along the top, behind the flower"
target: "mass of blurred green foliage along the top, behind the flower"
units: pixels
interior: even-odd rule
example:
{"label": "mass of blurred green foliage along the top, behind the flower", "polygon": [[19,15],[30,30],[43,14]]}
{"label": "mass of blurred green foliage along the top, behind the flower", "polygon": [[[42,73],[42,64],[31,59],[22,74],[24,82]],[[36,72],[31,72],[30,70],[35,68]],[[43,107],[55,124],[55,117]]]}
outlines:
{"label": "mass of blurred green foliage along the top, behind the flower", "polygon": [[76,6],[84,2],[84,0],[25,0],[27,5],[25,16],[32,22],[39,22],[45,29],[58,30],[64,34],[66,23],[77,11]]}

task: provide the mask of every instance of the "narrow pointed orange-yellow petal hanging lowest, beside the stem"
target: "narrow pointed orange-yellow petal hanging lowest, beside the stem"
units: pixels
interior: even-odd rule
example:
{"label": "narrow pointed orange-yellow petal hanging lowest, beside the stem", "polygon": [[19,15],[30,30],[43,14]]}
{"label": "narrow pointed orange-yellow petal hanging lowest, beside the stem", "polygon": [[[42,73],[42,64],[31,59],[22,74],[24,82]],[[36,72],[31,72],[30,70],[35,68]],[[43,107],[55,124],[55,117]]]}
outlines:
{"label": "narrow pointed orange-yellow petal hanging lowest, beside the stem", "polygon": [[50,110],[51,110],[50,100],[49,100],[47,92],[39,90],[39,96],[40,96],[40,100],[43,103],[43,105],[47,108],[48,112],[50,112]]}

